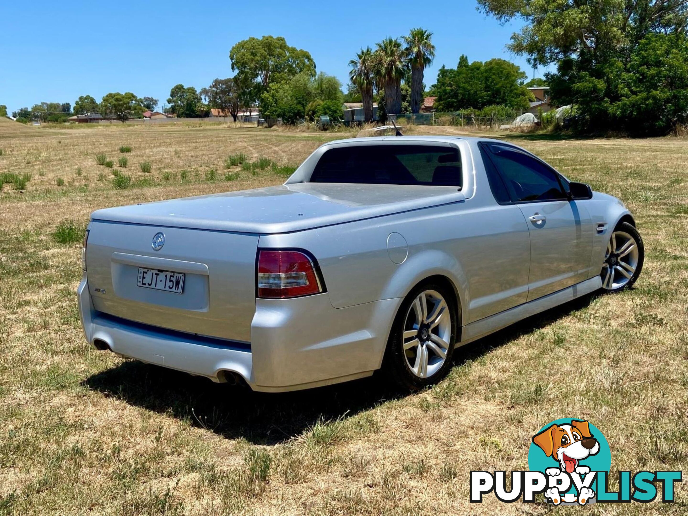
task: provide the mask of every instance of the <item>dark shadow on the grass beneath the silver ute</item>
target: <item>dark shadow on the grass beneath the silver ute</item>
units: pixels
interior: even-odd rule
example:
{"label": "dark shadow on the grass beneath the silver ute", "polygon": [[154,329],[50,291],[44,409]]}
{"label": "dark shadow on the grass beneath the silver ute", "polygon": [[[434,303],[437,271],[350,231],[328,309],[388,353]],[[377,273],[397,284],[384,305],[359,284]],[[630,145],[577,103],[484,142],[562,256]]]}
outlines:
{"label": "dark shadow on the grass beneath the silver ute", "polygon": [[[461,347],[454,364],[467,361],[535,332],[581,308],[594,294],[519,321],[491,336]],[[471,381],[466,378],[462,381]],[[287,393],[259,393],[248,387],[215,384],[207,378],[126,361],[89,376],[82,385],[130,405],[188,421],[225,438],[252,444],[279,444],[300,436],[319,420],[350,418],[405,394],[391,389],[382,375],[352,382]]]}

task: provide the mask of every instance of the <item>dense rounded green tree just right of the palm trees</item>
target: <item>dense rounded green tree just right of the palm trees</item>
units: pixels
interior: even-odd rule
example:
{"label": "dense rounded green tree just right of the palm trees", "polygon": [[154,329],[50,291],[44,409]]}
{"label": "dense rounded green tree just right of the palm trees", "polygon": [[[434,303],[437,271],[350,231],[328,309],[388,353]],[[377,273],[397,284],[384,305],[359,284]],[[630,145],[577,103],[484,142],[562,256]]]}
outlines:
{"label": "dense rounded green tree just right of the palm trees", "polygon": [[437,97],[439,111],[482,109],[491,105],[504,105],[513,109],[527,109],[532,94],[523,85],[525,72],[504,59],[491,59],[469,64],[461,56],[455,69],[440,68],[437,83],[431,92]]}

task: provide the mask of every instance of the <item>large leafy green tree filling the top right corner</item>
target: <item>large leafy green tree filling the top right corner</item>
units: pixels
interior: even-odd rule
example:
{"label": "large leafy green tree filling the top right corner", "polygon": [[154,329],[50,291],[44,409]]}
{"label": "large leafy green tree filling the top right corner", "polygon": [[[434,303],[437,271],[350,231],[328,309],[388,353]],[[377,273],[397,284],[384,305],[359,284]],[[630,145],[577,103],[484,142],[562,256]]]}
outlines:
{"label": "large leafy green tree filling the top right corner", "polygon": [[[526,55],[533,65],[557,64],[557,72],[545,78],[557,105],[576,106],[573,127],[583,131],[665,133],[676,123],[687,121],[678,61],[687,44],[687,1],[478,3],[481,10],[499,21],[525,22],[522,30],[511,37],[510,50]],[[638,83],[634,77],[645,80]],[[647,122],[650,107],[656,109],[652,114],[656,122]]]}

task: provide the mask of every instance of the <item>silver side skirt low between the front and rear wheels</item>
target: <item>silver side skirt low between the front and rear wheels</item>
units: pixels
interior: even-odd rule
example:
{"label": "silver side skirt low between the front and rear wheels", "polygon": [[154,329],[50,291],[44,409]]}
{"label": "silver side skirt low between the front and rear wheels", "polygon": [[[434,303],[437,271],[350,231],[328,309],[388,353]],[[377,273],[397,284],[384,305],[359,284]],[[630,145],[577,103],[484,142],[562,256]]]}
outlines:
{"label": "silver side skirt low between the front and rear wheels", "polygon": [[510,324],[526,319],[526,317],[544,312],[544,310],[549,310],[550,308],[572,301],[585,294],[590,294],[590,292],[594,292],[600,288],[602,288],[602,280],[599,276],[595,276],[594,278],[586,279],[585,281],[581,281],[581,283],[559,290],[559,292],[553,292],[552,294],[534,299],[528,303],[504,310],[504,312],[499,312],[485,319],[480,319],[480,321],[467,324],[462,328],[462,339],[459,345],[468,344],[471,341],[475,341],[497,330],[502,330],[502,328]]}

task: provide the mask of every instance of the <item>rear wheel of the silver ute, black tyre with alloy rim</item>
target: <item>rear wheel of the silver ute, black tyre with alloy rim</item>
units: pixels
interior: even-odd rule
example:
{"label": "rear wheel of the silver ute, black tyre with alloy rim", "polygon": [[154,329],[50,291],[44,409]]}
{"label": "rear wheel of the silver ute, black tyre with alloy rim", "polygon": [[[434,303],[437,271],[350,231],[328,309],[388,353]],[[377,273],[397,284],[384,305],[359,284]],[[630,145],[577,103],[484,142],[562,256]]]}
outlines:
{"label": "rear wheel of the silver ute, black tyre with alloy rim", "polygon": [[385,373],[408,391],[438,382],[451,367],[457,330],[454,293],[436,283],[417,286],[394,319],[383,361]]}

